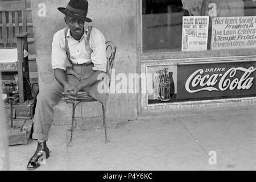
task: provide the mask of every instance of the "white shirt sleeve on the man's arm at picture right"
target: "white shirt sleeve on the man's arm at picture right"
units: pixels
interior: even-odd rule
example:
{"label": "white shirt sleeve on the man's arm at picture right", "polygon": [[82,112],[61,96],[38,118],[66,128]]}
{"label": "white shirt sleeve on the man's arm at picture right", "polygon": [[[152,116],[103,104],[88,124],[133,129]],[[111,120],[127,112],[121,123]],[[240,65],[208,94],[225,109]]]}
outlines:
{"label": "white shirt sleeve on the man's arm at picture right", "polygon": [[91,60],[94,64],[94,71],[106,72],[107,60],[106,60],[106,43],[104,35],[98,31],[93,30],[90,39],[90,45],[92,47]]}

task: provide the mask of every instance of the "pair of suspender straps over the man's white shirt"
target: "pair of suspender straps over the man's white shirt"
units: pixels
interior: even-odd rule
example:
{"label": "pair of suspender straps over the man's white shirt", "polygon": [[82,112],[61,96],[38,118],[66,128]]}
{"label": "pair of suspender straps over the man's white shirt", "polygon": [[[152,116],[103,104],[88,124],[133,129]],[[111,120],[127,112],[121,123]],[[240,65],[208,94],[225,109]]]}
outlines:
{"label": "pair of suspender straps over the man's white shirt", "polygon": [[[73,63],[72,60],[70,59],[70,51],[69,51],[69,47],[68,47],[68,39],[67,39],[67,35],[68,35],[68,28],[65,28],[64,30],[65,32],[65,49],[66,49],[66,55],[68,57],[68,61],[69,64],[71,66],[71,69],[73,69]],[[85,39],[85,49],[88,52],[88,54],[91,56],[92,55],[92,48],[90,48],[90,33],[92,32],[92,26],[88,27],[88,35],[86,36]],[[92,60],[90,60],[90,63],[92,63]]]}

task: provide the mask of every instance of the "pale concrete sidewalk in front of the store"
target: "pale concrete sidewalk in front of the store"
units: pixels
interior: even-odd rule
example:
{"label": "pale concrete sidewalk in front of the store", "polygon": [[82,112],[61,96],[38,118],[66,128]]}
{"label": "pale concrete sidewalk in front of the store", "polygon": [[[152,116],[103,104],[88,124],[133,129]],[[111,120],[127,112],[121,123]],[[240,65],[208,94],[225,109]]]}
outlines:
{"label": "pale concrete sidewalk in front of the store", "polygon": [[[104,131],[52,126],[51,154],[38,170],[256,170],[256,105],[145,112],[126,125]],[[11,146],[10,169],[26,170],[36,141]],[[209,152],[216,152],[216,165]]]}

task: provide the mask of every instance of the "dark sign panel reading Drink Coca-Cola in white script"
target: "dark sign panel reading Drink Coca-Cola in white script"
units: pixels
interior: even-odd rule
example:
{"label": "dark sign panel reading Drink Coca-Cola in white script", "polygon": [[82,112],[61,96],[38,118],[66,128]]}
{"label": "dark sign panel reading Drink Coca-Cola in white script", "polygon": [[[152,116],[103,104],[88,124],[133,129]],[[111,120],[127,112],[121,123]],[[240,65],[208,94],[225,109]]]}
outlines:
{"label": "dark sign panel reading Drink Coca-Cola in white script", "polygon": [[179,65],[177,99],[256,94],[256,62]]}

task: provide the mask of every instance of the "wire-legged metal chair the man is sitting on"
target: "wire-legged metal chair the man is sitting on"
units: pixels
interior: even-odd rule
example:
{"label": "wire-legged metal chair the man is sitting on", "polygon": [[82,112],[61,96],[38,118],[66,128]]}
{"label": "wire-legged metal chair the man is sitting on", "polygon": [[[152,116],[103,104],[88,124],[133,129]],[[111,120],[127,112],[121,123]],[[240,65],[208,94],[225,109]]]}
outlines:
{"label": "wire-legged metal chair the man is sitting on", "polygon": [[[109,88],[110,88],[110,81],[111,81],[111,75],[112,75],[112,68],[113,68],[113,64],[114,64],[114,58],[115,58],[115,52],[117,51],[117,47],[114,46],[113,42],[109,41],[106,42],[106,52],[107,52],[107,74],[109,77]],[[66,102],[67,104],[72,104],[72,125],[71,125],[71,129],[69,129],[67,131],[67,133],[70,132],[70,137],[67,143],[68,147],[71,147],[73,144],[73,131],[75,131],[76,127],[77,127],[77,118],[99,118],[99,117],[103,117],[103,126],[105,130],[105,142],[108,143],[108,135],[107,135],[107,131],[106,131],[106,102],[105,103],[101,103],[102,106],[102,115],[100,116],[96,116],[96,117],[76,117],[75,116],[75,111],[76,111],[76,107],[77,105],[79,105],[82,102],[98,102],[97,100],[94,100],[94,98],[92,98],[91,96],[89,96],[88,93],[86,92],[78,92],[75,96],[71,95],[69,93],[63,93],[64,94],[64,98],[62,98],[62,100],[64,102]]]}

